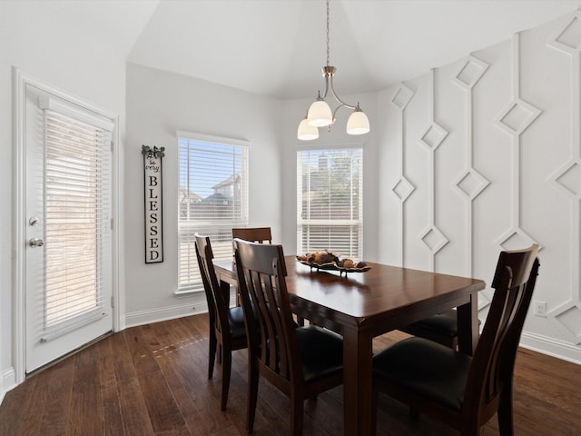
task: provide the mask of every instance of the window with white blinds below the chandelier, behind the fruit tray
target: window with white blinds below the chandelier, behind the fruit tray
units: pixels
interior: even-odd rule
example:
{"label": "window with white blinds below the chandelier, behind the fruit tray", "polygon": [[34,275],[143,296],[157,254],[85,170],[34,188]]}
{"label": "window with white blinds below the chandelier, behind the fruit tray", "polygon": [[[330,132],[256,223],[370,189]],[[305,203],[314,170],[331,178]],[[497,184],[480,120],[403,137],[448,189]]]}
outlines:
{"label": "window with white blinds below the chandelier, behind the fruit tray", "polygon": [[331,250],[361,259],[362,150],[297,153],[298,253]]}

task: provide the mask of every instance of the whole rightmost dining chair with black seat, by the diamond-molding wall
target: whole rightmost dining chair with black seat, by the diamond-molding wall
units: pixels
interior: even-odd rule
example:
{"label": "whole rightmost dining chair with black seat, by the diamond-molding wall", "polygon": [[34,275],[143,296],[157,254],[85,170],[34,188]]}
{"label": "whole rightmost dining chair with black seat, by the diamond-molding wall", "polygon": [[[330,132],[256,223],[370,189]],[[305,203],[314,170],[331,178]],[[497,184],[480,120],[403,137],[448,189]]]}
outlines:
{"label": "whole rightmost dining chair with black seat, by the diamond-molding wall", "polygon": [[379,391],[419,413],[476,436],[498,416],[503,436],[513,434],[512,379],[518,342],[537,281],[537,244],[501,252],[492,281],[494,296],[474,357],[425,338],[409,338],[373,358],[373,426]]}

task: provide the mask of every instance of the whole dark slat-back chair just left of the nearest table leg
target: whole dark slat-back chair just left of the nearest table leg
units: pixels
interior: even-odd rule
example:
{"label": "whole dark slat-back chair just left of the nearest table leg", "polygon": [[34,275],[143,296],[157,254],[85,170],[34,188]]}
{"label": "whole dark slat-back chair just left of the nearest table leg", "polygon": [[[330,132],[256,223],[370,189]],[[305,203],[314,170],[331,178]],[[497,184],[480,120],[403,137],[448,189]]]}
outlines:
{"label": "whole dark slat-back chair just left of the nearest table leg", "polygon": [[302,434],[303,401],[343,382],[343,341],[292,319],[282,245],[234,240],[246,334],[249,339],[247,431],[252,432],[259,378],[291,400],[291,434]]}

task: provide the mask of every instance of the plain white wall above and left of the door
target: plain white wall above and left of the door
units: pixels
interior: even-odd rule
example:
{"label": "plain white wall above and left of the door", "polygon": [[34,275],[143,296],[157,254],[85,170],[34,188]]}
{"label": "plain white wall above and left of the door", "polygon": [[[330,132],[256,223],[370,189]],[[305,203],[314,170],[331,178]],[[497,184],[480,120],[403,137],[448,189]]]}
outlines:
{"label": "plain white wall above and left of the door", "polygon": [[[15,383],[12,68],[123,116],[125,54],[82,27],[65,25],[58,8],[0,2],[0,398]],[[123,137],[123,136],[122,136]]]}

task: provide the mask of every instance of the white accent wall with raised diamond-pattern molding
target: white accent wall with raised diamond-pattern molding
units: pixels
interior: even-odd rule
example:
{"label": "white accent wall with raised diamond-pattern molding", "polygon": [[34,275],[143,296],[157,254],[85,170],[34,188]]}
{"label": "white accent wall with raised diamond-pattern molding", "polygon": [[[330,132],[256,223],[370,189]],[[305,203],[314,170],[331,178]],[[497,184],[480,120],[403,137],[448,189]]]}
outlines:
{"label": "white accent wall with raised diamond-pattern molding", "polygon": [[[575,362],[581,362],[579,14],[378,96],[385,218],[379,260],[489,283],[499,250],[540,244],[533,299],[547,302],[547,317],[531,308],[522,344]],[[481,319],[490,298],[490,290],[481,292]]]}

